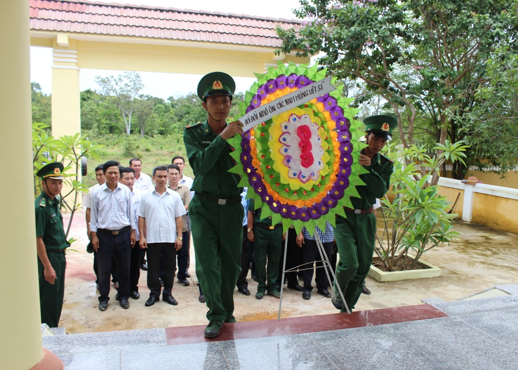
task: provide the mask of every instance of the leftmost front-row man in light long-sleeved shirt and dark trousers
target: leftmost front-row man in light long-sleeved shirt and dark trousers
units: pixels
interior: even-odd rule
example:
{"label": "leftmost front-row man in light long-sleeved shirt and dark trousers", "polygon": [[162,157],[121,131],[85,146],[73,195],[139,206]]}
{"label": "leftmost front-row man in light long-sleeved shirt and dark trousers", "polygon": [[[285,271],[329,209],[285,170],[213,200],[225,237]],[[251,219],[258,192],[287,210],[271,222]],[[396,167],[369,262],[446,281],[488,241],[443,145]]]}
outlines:
{"label": "leftmost front-row man in light long-sleeved shirt and dark trousers", "polygon": [[119,164],[114,160],[103,166],[106,183],[92,194],[90,230],[92,245],[97,251],[99,269],[99,310],[108,308],[110,297],[110,274],[113,258],[117,261],[119,289],[116,299],[122,308],[130,302],[130,257],[135,245],[135,212],[131,190],[119,183]]}

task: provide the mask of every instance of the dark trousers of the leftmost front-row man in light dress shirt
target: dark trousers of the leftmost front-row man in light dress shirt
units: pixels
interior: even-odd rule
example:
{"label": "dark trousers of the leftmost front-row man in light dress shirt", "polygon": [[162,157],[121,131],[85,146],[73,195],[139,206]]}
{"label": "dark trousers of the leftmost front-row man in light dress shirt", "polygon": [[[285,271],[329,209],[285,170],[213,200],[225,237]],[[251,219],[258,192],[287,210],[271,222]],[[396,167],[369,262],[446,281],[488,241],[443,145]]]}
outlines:
{"label": "dark trousers of the leftmost front-row man in light dress shirt", "polygon": [[131,260],[131,231],[113,235],[111,232],[99,229],[97,238],[97,268],[99,269],[99,302],[108,302],[110,297],[110,274],[113,260],[117,263],[119,280],[119,299],[130,298],[130,260]]}

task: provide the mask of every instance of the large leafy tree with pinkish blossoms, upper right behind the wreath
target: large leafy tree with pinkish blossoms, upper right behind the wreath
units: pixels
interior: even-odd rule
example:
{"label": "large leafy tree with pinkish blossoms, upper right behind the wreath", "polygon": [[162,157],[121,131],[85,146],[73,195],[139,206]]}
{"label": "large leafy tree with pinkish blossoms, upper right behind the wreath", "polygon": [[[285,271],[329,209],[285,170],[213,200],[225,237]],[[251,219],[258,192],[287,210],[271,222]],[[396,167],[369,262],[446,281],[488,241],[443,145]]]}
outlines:
{"label": "large leafy tree with pinkish blossoms, upper right behind the wreath", "polygon": [[[340,79],[363,81],[392,107],[404,146],[415,125],[444,144],[463,138],[464,113],[487,83],[486,61],[518,31],[516,0],[301,0],[307,22],[277,29],[281,50],[326,53],[320,63]],[[439,150],[440,152],[440,150]],[[463,176],[462,163],[456,164]],[[434,177],[434,182],[437,177]]]}

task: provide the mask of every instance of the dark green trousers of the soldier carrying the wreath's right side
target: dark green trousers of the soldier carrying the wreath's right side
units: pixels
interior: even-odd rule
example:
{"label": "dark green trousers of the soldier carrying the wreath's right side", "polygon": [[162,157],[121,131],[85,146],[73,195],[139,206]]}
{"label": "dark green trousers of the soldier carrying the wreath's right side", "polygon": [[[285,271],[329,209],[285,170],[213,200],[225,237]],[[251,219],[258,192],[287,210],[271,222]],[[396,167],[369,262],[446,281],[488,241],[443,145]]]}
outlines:
{"label": "dark green trousers of the soldier carrying the wreath's right side", "polygon": [[[373,213],[347,212],[347,219],[337,217],[335,239],[340,260],[336,265],[336,279],[350,309],[358,302],[370,270],[376,240],[376,216]],[[345,310],[343,310],[345,312]]]}

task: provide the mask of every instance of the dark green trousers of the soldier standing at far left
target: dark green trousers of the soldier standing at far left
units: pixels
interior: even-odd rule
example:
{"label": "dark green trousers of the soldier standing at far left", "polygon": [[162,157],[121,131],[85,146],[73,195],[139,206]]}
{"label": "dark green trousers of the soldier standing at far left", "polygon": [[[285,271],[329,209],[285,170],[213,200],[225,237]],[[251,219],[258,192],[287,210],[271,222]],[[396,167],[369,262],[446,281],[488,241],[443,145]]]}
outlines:
{"label": "dark green trousers of the soldier standing at far left", "polygon": [[57,328],[57,324],[60,322],[61,308],[63,307],[63,295],[65,294],[65,253],[47,250],[47,257],[56,272],[56,279],[54,284],[45,280],[45,269],[38,258],[41,323],[49,325],[50,328]]}

